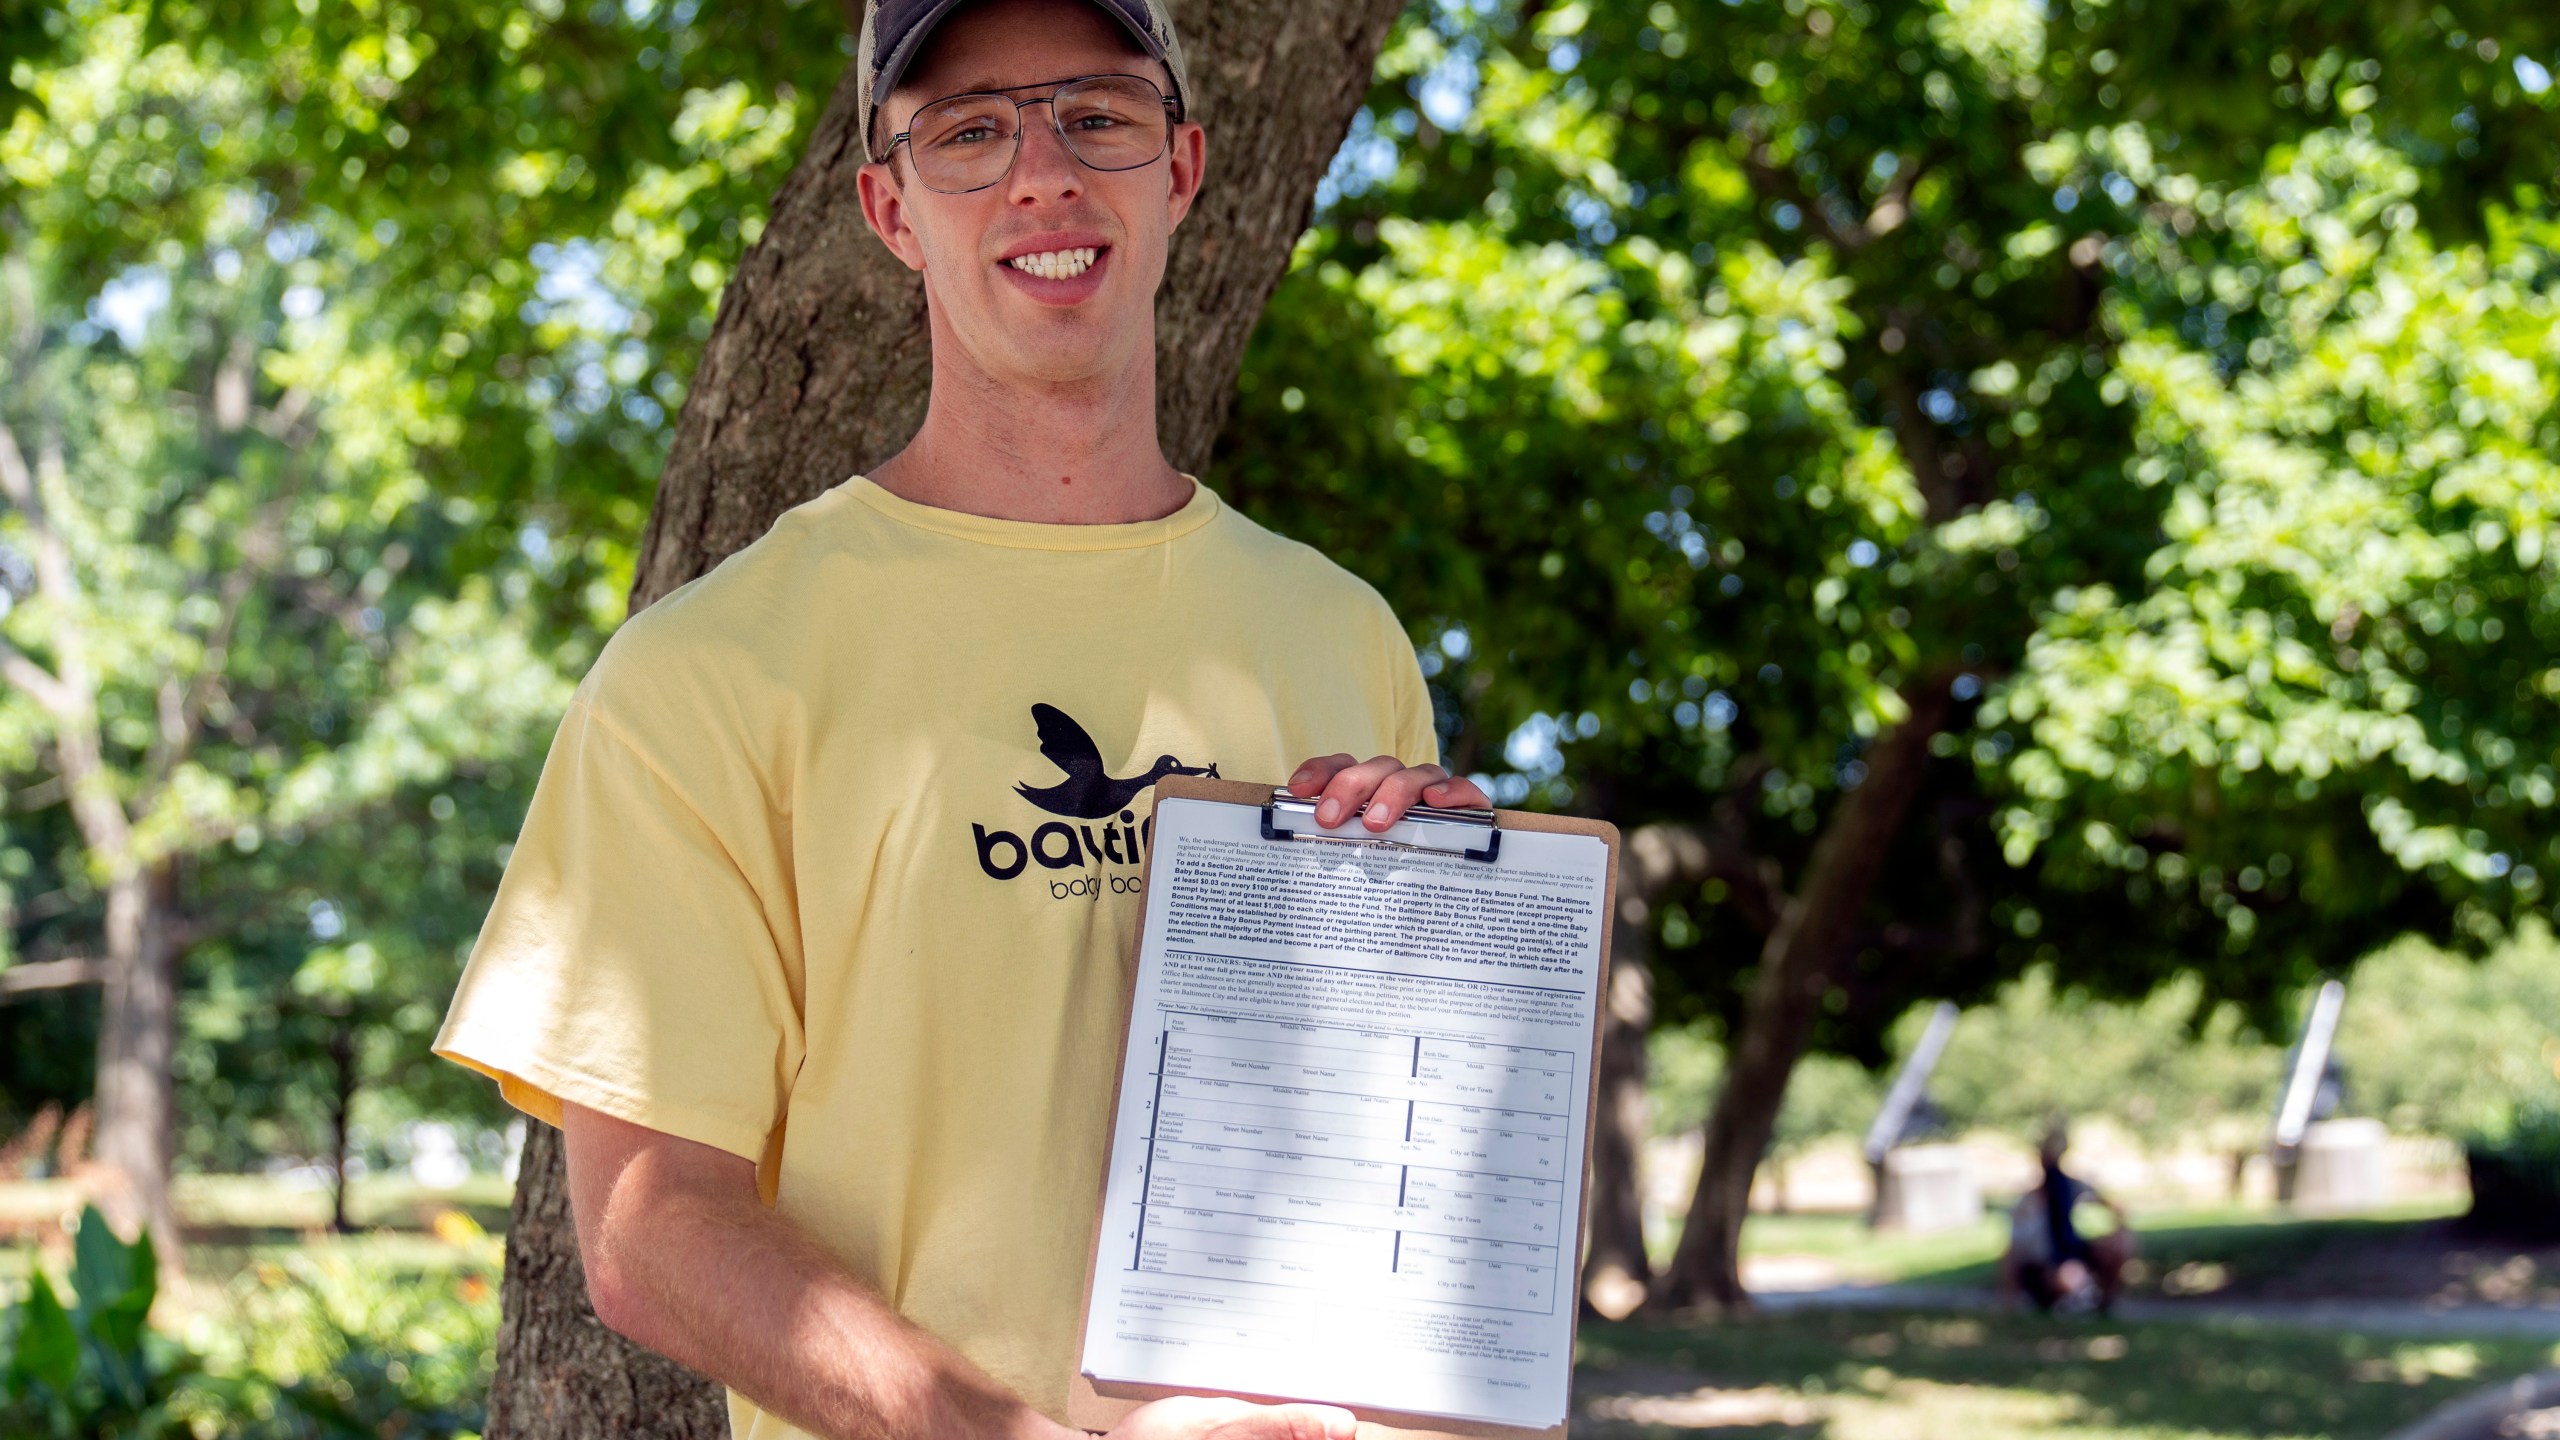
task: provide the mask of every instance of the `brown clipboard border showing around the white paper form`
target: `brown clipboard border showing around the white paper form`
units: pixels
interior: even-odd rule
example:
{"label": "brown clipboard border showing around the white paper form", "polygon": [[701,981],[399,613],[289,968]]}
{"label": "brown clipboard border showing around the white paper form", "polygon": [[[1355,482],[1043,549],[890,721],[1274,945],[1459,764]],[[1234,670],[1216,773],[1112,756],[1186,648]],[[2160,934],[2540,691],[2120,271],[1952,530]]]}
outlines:
{"label": "brown clipboard border showing around the white paper form", "polygon": [[[1165,776],[1155,781],[1155,805],[1167,799],[1208,799],[1216,805],[1252,805],[1262,807],[1272,797],[1270,784],[1252,784],[1242,779],[1201,779],[1201,776]],[[1582,1099],[1582,1217],[1574,1225],[1574,1286],[1567,1291],[1572,1309],[1572,1322],[1567,1327],[1567,1345],[1580,1345],[1582,1335],[1582,1253],[1590,1245],[1592,1225],[1592,1125],[1600,1117],[1600,1040],[1608,1033],[1608,961],[1610,961],[1610,935],[1618,925],[1618,828],[1608,820],[1582,820],[1574,815],[1536,815],[1528,810],[1495,810],[1495,828],[1500,830],[1544,830],[1551,835],[1590,835],[1608,846],[1608,874],[1600,879],[1600,986],[1595,989],[1592,1004],[1592,1074],[1590,1094]],[[1152,835],[1152,810],[1149,810],[1149,835]],[[1137,943],[1124,958],[1121,979],[1129,986],[1132,1012],[1121,1017],[1121,1045],[1119,1061],[1111,1068],[1111,1125],[1119,1125],[1119,1089],[1121,1079],[1129,1074],[1129,1027],[1137,1020],[1137,956],[1147,945],[1147,881],[1155,876],[1155,846],[1147,846],[1147,863],[1139,869],[1139,922]],[[1306,1402],[1311,1396],[1275,1396],[1275,1394],[1226,1394],[1226,1391],[1201,1391],[1180,1386],[1142,1386],[1142,1384],[1093,1384],[1085,1376],[1085,1330],[1093,1317],[1093,1276],[1101,1268],[1103,1256],[1103,1197],[1111,1189],[1111,1158],[1103,1156],[1103,1194],[1093,1197],[1093,1245],[1085,1248],[1085,1299],[1075,1307],[1075,1373],[1068,1379],[1068,1425],[1078,1430],[1103,1432],[1121,1422],[1132,1409],[1152,1399],[1172,1399],[1180,1394],[1198,1396],[1226,1396],[1249,1399],[1262,1404]],[[1316,1402],[1334,1404],[1334,1402]],[[1349,1407],[1359,1420],[1359,1440],[1426,1440],[1431,1435],[1467,1435],[1472,1440],[1564,1440],[1567,1425],[1549,1430],[1528,1430],[1521,1425],[1485,1425],[1475,1420],[1449,1420],[1436,1414],[1405,1414],[1395,1409]]]}

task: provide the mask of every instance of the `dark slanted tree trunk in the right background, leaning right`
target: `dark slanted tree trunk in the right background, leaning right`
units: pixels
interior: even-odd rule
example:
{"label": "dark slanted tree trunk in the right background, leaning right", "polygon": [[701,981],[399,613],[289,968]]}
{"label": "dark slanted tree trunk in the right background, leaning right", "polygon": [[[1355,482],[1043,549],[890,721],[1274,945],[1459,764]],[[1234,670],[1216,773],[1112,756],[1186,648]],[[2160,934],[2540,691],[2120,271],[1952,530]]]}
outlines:
{"label": "dark slanted tree trunk in the right background, leaning right", "polygon": [[1777,1130],[1787,1076],[1805,1056],[1812,1017],[1848,963],[1859,917],[1884,869],[1902,817],[1928,771],[1928,740],[1946,725],[1943,676],[1905,687],[1910,717],[1866,753],[1866,781],[1841,797],[1830,825],[1812,846],[1805,881],[1761,945],[1759,979],[1743,1004],[1741,1035],[1731,1048],[1723,1086],[1708,1112],[1705,1163],[1697,1197],[1679,1227],[1679,1250],[1656,1286],[1654,1304],[1748,1307],[1741,1281],[1743,1217],[1751,1179]]}

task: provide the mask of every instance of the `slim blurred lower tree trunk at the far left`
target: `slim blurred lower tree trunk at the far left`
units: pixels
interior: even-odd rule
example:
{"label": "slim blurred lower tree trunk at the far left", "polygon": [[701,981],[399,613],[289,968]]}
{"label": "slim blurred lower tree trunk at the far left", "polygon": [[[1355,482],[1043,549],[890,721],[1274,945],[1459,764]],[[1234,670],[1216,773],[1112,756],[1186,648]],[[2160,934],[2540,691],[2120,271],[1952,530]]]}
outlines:
{"label": "slim blurred lower tree trunk at the far left", "polygon": [[97,1022],[97,1204],[136,1235],[151,1227],[164,1268],[179,1258],[169,1204],[177,1148],[177,869],[108,881],[108,984]]}

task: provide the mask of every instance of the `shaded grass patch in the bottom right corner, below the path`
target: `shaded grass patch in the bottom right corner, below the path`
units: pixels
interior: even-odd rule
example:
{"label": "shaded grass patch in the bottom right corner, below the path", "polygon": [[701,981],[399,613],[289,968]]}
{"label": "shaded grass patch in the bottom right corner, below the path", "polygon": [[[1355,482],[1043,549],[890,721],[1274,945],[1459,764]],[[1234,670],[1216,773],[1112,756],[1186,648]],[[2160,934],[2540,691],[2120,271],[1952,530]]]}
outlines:
{"label": "shaded grass patch in the bottom right corner, below the path", "polygon": [[[2547,1340],[2401,1343],[2253,1325],[1784,1312],[1587,1325],[1585,1440],[2383,1437]],[[1713,1386],[1713,1389],[1708,1389]]]}

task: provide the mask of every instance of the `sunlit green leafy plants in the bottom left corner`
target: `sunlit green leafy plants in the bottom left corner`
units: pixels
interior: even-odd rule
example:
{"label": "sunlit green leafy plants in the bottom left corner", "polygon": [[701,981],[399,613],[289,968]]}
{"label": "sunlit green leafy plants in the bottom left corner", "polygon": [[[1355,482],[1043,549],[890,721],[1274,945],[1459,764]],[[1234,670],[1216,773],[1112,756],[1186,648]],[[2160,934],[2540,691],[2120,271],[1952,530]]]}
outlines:
{"label": "sunlit green leafy plants in the bottom left corner", "polygon": [[484,1420],[497,1345],[499,1245],[461,1215],[440,1271],[289,1253],[251,1263],[184,1335],[148,1325],[148,1238],[123,1243],[92,1207],[72,1299],[41,1266],[0,1312],[0,1435],[10,1440],[466,1440]]}

